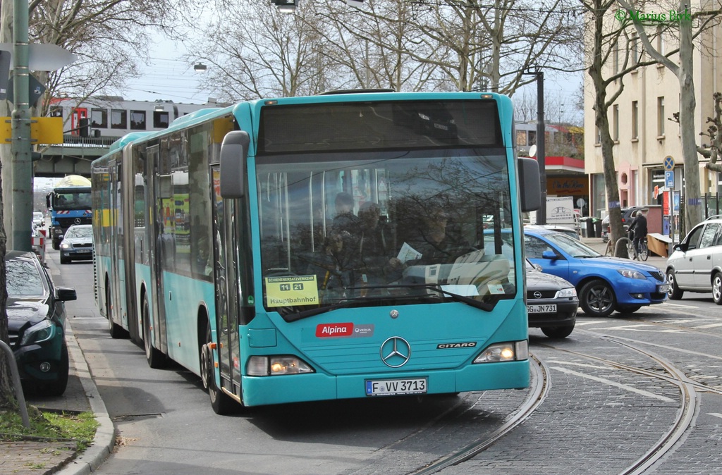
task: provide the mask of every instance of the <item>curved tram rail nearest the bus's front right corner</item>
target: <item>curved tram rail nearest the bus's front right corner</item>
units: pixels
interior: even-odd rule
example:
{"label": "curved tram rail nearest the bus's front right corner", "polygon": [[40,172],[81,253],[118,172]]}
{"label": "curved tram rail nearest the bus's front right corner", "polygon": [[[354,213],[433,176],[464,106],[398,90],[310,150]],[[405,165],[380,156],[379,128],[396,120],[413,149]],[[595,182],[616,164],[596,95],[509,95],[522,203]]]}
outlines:
{"label": "curved tram rail nearest the bus's front right corner", "polygon": [[494,445],[498,440],[522,424],[527,418],[529,418],[529,416],[531,416],[531,414],[534,414],[536,408],[544,402],[545,398],[547,398],[551,388],[551,380],[549,379],[549,367],[547,367],[544,362],[534,357],[534,355],[530,355],[530,363],[532,363],[529,365],[529,368],[532,372],[533,378],[531,378],[532,385],[529,391],[529,396],[523,404],[519,406],[518,410],[510,417],[510,419],[508,419],[508,421],[489,435],[481,437],[473,443],[464,446],[464,448],[439,458],[437,461],[430,463],[422,469],[409,472],[408,475],[435,474],[448,466],[463,463],[464,461],[477,456],[491,445]]}

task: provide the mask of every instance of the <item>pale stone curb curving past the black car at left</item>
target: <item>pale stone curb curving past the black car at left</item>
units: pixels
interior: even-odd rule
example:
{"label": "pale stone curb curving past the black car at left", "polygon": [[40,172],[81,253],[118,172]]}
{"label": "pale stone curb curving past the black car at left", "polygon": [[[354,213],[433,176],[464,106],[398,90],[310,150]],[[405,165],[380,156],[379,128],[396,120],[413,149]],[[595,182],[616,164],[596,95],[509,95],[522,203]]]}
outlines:
{"label": "pale stone curb curving past the black car at left", "polygon": [[75,339],[73,329],[70,326],[70,319],[66,319],[65,331],[68,352],[72,360],[71,367],[80,379],[85,396],[87,396],[90,403],[90,410],[95,414],[95,420],[99,425],[90,447],[85,449],[79,457],[67,463],[56,474],[87,475],[97,470],[100,464],[110,456],[110,453],[113,453],[113,447],[116,445],[116,428],[113,426],[110,416],[108,416],[108,409],[105,409],[105,403],[100,398],[95,380],[90,374],[90,367],[88,367],[82,349],[80,349]]}

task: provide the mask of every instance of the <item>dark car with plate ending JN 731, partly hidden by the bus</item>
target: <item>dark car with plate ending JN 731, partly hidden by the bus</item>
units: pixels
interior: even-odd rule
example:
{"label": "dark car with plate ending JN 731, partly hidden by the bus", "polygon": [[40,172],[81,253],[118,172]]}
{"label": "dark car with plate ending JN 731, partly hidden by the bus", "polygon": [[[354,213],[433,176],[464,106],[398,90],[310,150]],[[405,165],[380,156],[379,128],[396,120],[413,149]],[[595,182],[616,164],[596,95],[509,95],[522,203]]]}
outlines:
{"label": "dark car with plate ending JN 731, partly hidden by the bus", "polygon": [[549,338],[566,338],[576,323],[579,299],[570,282],[544,274],[526,261],[526,310],[529,326]]}

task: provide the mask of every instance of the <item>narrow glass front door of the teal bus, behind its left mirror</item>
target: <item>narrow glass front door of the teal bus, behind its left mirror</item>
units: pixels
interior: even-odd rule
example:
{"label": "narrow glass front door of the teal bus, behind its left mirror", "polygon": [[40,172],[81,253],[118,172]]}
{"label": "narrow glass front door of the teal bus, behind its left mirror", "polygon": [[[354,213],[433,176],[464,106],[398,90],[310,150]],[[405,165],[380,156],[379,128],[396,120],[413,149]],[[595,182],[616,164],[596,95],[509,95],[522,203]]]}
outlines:
{"label": "narrow glass front door of the teal bus, behind its left mirror", "polygon": [[216,295],[216,334],[219,354],[221,385],[242,398],[240,392],[240,342],[238,341],[238,274],[235,263],[235,209],[234,201],[222,201],[217,195],[220,186],[219,165],[212,166],[214,180],[214,276]]}

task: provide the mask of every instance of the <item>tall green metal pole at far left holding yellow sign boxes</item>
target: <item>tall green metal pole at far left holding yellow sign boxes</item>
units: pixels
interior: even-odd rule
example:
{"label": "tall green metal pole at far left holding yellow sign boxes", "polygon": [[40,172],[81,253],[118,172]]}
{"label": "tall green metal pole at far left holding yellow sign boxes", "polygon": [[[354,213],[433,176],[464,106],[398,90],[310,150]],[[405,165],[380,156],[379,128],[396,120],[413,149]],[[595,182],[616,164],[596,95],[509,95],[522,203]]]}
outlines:
{"label": "tall green metal pole at far left holding yellow sign boxes", "polygon": [[[27,33],[27,0],[14,0],[13,35],[13,104],[12,141],[12,219],[8,248],[32,250],[32,159],[30,146],[30,46]],[[12,239],[11,239],[12,238]]]}

